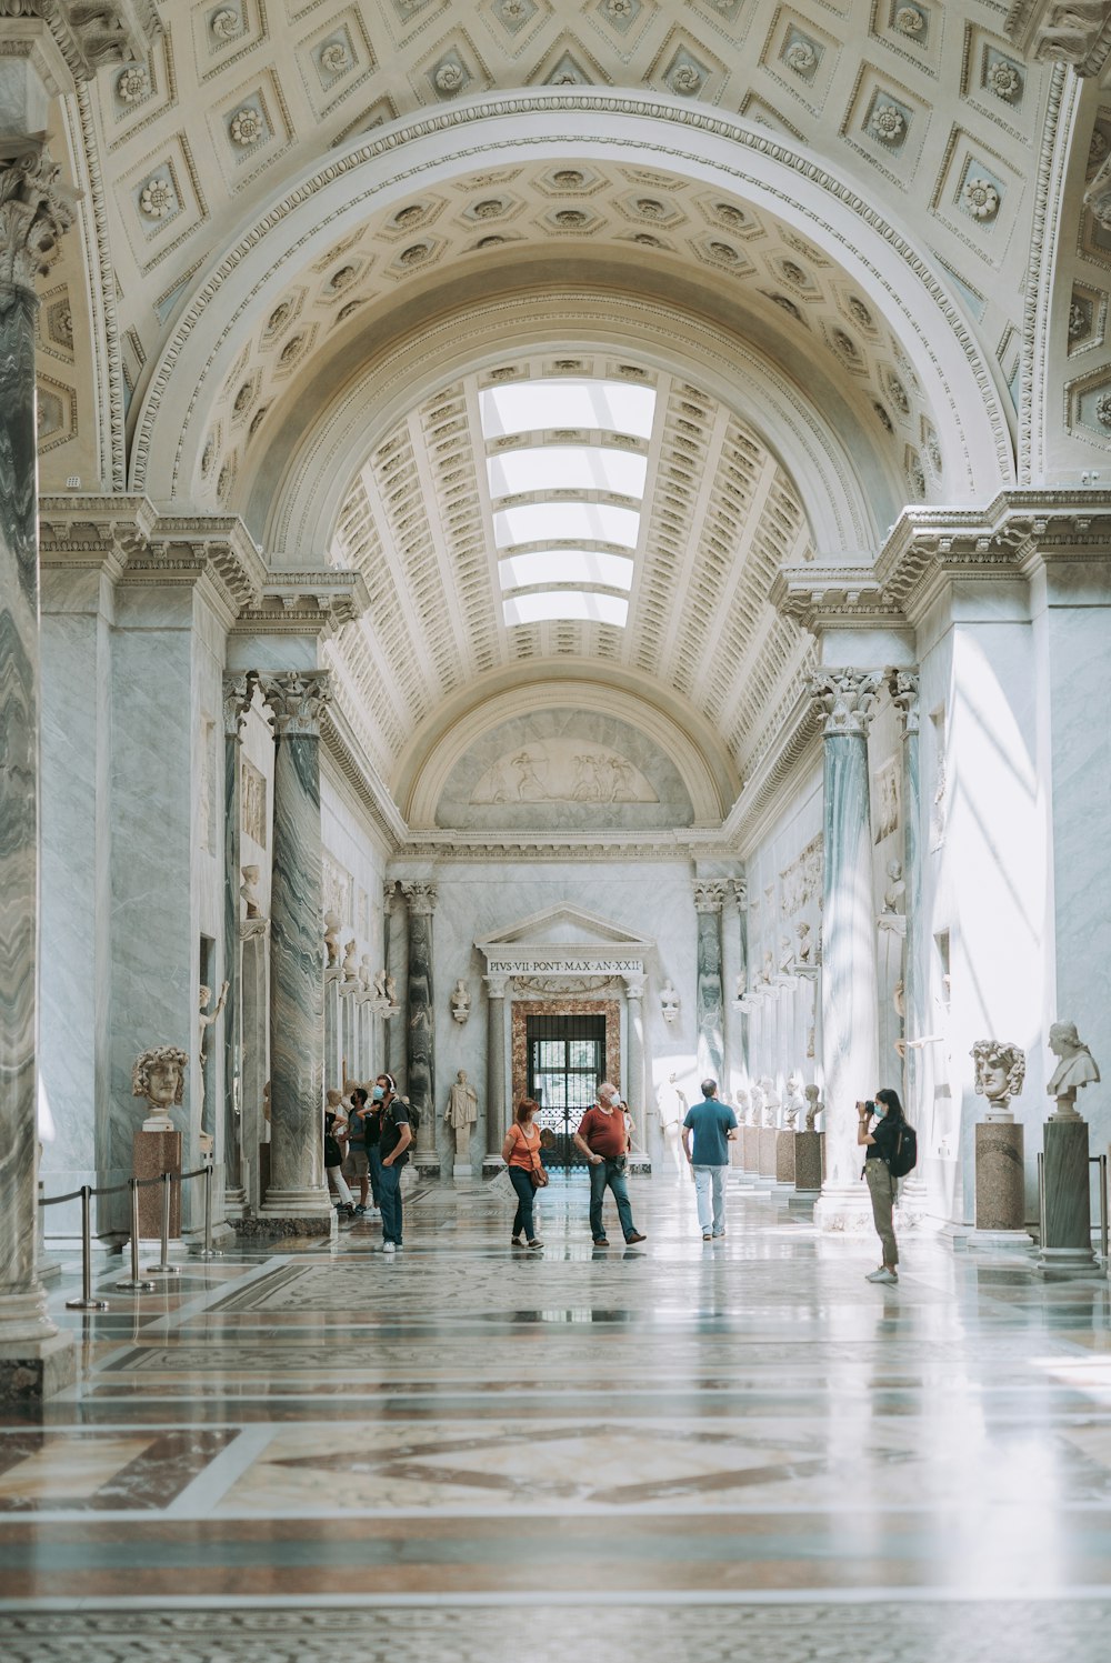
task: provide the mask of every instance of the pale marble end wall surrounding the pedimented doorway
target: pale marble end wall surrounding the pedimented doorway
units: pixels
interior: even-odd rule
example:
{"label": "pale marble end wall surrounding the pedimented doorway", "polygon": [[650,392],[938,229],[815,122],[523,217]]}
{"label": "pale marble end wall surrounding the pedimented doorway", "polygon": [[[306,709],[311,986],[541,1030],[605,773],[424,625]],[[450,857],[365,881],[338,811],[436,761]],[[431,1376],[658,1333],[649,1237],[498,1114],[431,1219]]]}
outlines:
{"label": "pale marble end wall surrounding the pedimented doorway", "polygon": [[[506,865],[476,861],[442,866],[436,873],[437,903],[432,920],[437,1121],[459,1068],[471,1076],[481,1106],[486,1104],[486,961],[474,941],[562,903],[580,906],[630,935],[655,941],[644,991],[647,1109],[655,1109],[657,1096],[672,1073],[687,1098],[697,1099],[697,940],[690,881],[692,868],[685,860],[635,865],[620,860]],[[467,981],[472,999],[471,1018],[464,1026],[452,1019],[447,1003],[459,976]],[[669,976],[680,996],[680,1013],[670,1026],[660,1013],[660,988]],[[507,1083],[509,1078],[507,1074]],[[441,1159],[447,1166],[451,1141],[442,1121],[437,1139]],[[476,1136],[472,1162],[482,1157],[479,1142]]]}

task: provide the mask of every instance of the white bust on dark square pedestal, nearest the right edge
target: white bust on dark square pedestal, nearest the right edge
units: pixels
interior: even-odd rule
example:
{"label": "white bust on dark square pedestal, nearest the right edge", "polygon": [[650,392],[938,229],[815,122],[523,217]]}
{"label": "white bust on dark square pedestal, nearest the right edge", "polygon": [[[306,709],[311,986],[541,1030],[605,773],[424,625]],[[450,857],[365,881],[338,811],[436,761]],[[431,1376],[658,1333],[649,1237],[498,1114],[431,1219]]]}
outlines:
{"label": "white bust on dark square pedestal, nearest the right edge", "polygon": [[1091,1271],[1091,1191],[1088,1179],[1088,1121],[1076,1113],[1076,1093],[1099,1081],[1099,1069],[1076,1033],[1076,1023],[1054,1023],[1049,1049],[1058,1066],[1046,1091],[1056,1111],[1044,1124],[1041,1251],[1038,1267],[1058,1276]]}

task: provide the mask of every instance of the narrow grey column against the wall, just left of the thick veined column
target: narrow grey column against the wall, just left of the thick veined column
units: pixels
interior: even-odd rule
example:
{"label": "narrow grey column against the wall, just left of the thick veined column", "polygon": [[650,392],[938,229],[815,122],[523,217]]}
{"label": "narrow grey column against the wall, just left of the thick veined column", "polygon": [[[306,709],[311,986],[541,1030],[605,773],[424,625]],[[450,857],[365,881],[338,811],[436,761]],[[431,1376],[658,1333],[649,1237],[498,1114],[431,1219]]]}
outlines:
{"label": "narrow grey column against the wall, just left of the thick veined column", "polygon": [[[243,748],[243,723],[254,698],[254,677],[225,675],[225,1209],[241,1212],[246,1192],[243,1187],[243,971],[239,951],[239,827],[243,807],[239,802],[239,757]],[[221,1159],[220,1136],[216,1161]]]}

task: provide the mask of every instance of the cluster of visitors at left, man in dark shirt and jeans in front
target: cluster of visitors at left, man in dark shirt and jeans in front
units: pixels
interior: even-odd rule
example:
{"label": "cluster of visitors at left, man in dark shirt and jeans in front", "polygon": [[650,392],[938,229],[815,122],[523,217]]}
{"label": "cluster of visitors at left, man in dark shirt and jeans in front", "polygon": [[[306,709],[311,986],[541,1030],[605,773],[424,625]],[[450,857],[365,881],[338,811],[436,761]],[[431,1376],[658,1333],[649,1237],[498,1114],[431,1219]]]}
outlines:
{"label": "cluster of visitors at left, man in dark shirt and jeans in front", "polygon": [[[386,1254],[404,1246],[401,1171],[409,1162],[411,1142],[409,1104],[397,1096],[393,1074],[379,1074],[369,1091],[354,1086],[346,1104],[343,1093],[328,1093],[324,1169],[339,1196],[338,1211],[349,1219],[379,1214]],[[351,1182],[359,1186],[359,1201]]]}

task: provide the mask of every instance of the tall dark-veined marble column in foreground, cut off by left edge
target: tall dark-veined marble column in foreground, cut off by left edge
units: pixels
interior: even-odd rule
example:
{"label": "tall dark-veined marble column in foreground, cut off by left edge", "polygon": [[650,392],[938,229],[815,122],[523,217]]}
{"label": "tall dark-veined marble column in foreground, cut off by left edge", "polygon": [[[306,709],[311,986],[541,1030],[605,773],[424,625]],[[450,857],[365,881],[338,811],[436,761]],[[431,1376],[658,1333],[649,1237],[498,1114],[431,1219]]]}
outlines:
{"label": "tall dark-veined marble column in foreground, cut off by left edge", "polygon": [[[17,72],[18,73],[18,72]],[[18,148],[15,148],[18,146]],[[15,150],[15,153],[13,153]],[[38,457],[35,278],[73,213],[33,141],[0,161],[0,1395],[73,1377],[38,1279]]]}

